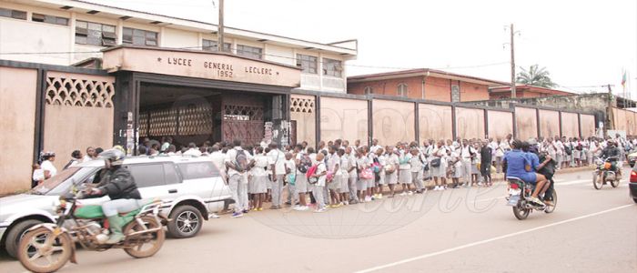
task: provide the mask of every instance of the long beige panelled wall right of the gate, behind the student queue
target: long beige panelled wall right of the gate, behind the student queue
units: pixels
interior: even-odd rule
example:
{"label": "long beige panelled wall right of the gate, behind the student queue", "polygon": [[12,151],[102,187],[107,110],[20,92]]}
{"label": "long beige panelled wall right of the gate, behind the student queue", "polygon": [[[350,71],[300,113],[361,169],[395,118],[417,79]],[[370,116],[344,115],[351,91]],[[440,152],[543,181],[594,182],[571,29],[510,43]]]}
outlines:
{"label": "long beige panelled wall right of the gate, behind the student queue", "polygon": [[337,138],[350,142],[376,138],[381,145],[393,145],[399,141],[420,143],[457,137],[504,138],[509,134],[521,139],[588,137],[595,135],[596,125],[591,113],[542,106],[497,108],[304,90],[293,91],[291,101],[290,116],[296,132],[292,139],[308,141],[310,146]]}

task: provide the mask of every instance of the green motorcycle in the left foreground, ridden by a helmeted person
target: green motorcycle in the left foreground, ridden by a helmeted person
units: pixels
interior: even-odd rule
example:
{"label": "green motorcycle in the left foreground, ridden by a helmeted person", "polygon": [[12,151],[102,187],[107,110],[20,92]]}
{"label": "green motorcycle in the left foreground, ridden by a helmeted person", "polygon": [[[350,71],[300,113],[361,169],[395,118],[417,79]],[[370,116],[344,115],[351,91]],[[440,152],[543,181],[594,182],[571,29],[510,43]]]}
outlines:
{"label": "green motorcycle in the left foreground, ridden by a helmeted person", "polygon": [[153,200],[145,206],[120,214],[126,225],[124,240],[114,245],[108,239],[108,220],[99,205],[82,206],[78,200],[82,193],[69,193],[60,197],[56,206],[57,221],[31,227],[20,240],[17,256],[20,263],[33,272],[54,272],[67,261],[76,262],[76,242],[83,248],[104,251],[123,248],[134,258],[155,255],[164,244],[165,233],[159,215],[162,202]]}

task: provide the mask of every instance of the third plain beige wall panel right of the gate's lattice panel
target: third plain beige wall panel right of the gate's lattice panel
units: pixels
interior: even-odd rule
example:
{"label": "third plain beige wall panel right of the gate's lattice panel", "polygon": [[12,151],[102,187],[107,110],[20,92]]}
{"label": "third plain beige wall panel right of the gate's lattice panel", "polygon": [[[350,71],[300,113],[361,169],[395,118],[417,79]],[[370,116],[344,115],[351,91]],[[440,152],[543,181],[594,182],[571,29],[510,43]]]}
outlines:
{"label": "third plain beige wall panel right of the gate's lattice panel", "polygon": [[438,141],[453,137],[451,106],[420,104],[418,115],[420,143],[426,139]]}

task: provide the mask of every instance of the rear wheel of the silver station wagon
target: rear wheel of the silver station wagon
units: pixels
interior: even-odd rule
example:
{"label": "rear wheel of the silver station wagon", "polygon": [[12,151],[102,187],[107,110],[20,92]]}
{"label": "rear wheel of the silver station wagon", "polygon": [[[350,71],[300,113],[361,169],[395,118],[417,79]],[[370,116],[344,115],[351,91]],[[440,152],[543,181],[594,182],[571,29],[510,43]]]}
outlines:
{"label": "rear wheel of the silver station wagon", "polygon": [[171,221],[168,222],[168,233],[173,238],[191,238],[195,237],[201,225],[203,217],[197,207],[190,205],[182,205],[175,207],[170,213]]}

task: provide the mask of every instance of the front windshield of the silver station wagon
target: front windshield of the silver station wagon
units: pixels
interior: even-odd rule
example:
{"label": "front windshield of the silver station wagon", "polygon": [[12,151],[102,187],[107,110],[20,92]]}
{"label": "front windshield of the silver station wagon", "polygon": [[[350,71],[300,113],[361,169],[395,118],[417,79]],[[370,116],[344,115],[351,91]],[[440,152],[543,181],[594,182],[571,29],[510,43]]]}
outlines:
{"label": "front windshield of the silver station wagon", "polygon": [[42,184],[31,189],[29,193],[47,196],[61,195],[71,187],[73,181],[81,181],[95,169],[95,167],[69,167],[59,172],[55,177],[46,179]]}

